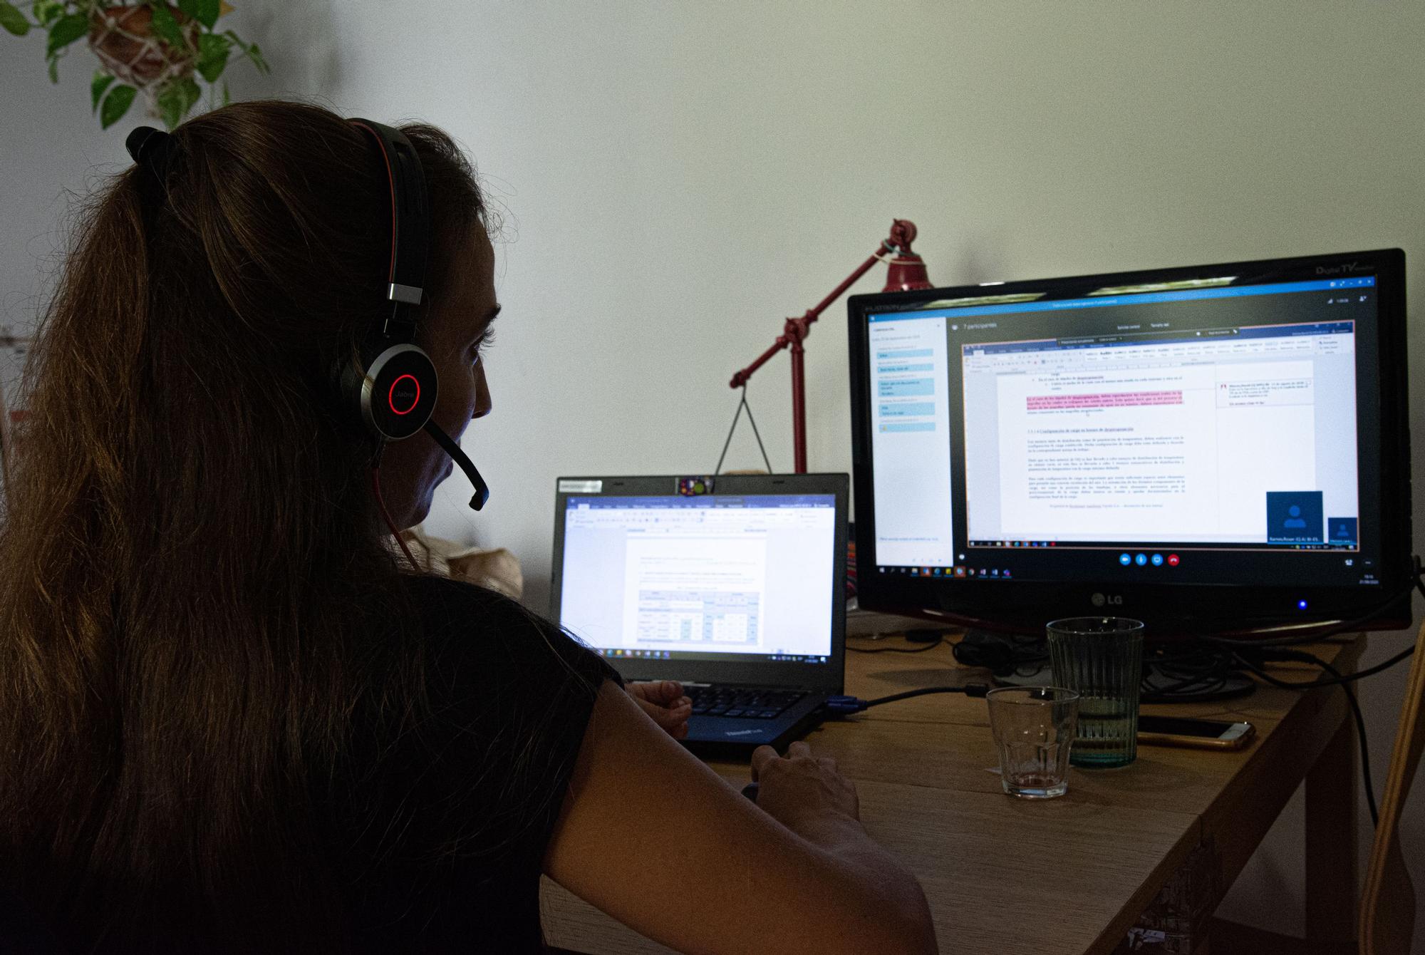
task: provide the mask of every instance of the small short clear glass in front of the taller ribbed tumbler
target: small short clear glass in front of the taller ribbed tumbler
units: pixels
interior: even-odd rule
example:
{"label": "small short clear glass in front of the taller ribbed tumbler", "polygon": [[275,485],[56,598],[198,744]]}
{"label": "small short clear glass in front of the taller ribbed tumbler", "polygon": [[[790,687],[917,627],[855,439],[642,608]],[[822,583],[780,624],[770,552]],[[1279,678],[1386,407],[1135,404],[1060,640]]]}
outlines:
{"label": "small short clear glass in front of the taller ribbed tumbler", "polygon": [[1079,694],[1063,687],[1000,687],[985,700],[1005,791],[1026,800],[1067,793]]}

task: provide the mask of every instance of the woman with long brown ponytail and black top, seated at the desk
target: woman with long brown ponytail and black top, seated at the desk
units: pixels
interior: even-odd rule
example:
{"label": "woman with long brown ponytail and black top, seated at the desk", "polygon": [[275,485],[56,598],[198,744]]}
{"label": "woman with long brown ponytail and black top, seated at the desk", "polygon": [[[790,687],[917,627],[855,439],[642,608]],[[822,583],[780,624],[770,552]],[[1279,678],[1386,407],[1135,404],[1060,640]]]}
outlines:
{"label": "woman with long brown ponytail and black top, seated at the desk", "polygon": [[[403,133],[432,217],[416,344],[459,440],[490,409],[489,217],[445,134]],[[685,951],[935,951],[829,760],[764,747],[754,805],[674,741],[680,687],[626,690],[393,556],[333,373],[382,318],[366,131],[242,103],[171,145],[91,201],[31,358],[0,529],[4,885],[76,952],[540,951],[540,872]],[[418,523],[447,459],[416,435],[380,460]]]}

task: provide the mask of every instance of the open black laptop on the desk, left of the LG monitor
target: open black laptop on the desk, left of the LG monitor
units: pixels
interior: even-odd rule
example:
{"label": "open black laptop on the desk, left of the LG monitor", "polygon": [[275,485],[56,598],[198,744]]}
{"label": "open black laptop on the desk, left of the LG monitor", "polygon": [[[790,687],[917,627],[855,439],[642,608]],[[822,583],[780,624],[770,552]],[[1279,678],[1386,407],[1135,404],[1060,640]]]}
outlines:
{"label": "open black laptop on the desk, left of the LG monitor", "polygon": [[842,693],[846,475],[560,478],[551,616],[626,680],[678,680],[684,744],[784,750]]}

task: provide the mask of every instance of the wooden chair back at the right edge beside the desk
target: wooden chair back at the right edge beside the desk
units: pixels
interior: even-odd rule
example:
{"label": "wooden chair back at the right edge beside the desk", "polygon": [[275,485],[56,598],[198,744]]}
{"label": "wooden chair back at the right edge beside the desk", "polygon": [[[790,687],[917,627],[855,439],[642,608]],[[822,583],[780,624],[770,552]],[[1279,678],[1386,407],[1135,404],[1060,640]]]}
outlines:
{"label": "wooden chair back at the right edge beside the desk", "polygon": [[[1396,955],[1411,951],[1415,931],[1415,887],[1401,854],[1399,822],[1411,781],[1425,750],[1425,624],[1415,639],[1415,657],[1405,683],[1401,726],[1395,731],[1389,775],[1375,827],[1365,892],[1361,895],[1361,955]],[[1361,758],[1368,758],[1361,754]]]}

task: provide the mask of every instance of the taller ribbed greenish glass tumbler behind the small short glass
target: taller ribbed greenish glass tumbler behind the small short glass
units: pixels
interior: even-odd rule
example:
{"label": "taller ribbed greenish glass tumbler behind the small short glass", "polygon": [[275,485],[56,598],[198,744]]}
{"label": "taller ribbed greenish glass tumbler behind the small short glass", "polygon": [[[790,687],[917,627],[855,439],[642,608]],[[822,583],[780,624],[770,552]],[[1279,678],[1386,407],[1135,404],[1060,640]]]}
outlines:
{"label": "taller ribbed greenish glass tumbler behind the small short glass", "polygon": [[1047,626],[1054,683],[1079,693],[1079,734],[1069,760],[1082,767],[1133,763],[1139,755],[1143,621],[1072,617]]}

